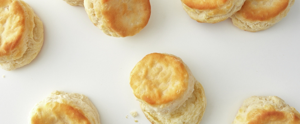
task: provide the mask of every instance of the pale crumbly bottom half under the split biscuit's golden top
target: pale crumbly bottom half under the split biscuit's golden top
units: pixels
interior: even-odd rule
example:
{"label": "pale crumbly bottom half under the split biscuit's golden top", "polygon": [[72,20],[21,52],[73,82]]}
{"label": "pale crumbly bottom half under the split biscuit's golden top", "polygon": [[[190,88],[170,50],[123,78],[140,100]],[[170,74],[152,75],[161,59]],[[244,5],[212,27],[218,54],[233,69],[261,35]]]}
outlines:
{"label": "pale crumbly bottom half under the split biscuit's golden top", "polygon": [[206,97],[202,85],[197,81],[192,96],[172,113],[160,114],[146,111],[146,106],[140,103],[141,109],[152,124],[199,124],[206,107]]}

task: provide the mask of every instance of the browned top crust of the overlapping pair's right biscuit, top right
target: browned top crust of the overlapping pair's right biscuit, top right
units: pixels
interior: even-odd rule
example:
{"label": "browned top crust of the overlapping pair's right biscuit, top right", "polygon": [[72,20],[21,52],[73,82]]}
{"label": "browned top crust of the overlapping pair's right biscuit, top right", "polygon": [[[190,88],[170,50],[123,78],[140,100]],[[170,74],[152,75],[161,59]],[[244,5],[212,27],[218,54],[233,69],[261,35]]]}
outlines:
{"label": "browned top crust of the overlapping pair's right biscuit, top right", "polygon": [[250,21],[268,21],[289,5],[289,0],[246,0],[241,10],[236,12]]}

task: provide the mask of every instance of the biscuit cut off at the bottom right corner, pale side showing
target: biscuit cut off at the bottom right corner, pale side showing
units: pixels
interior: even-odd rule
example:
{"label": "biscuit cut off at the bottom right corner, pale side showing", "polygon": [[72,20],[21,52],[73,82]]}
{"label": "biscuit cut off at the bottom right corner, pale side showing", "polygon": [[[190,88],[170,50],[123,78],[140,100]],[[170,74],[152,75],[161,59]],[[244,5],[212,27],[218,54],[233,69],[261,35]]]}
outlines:
{"label": "biscuit cut off at the bottom right corner, pale side showing", "polygon": [[246,99],[232,124],[300,124],[300,114],[276,96]]}

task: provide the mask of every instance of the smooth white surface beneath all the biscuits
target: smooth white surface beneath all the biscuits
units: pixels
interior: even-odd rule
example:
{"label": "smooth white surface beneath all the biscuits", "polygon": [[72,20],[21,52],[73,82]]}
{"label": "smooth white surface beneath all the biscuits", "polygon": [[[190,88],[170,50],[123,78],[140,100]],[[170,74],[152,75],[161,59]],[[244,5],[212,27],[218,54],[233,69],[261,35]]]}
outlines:
{"label": "smooth white surface beneath all the biscuits", "polygon": [[[86,95],[101,124],[150,124],[131,91],[129,74],[154,52],[182,58],[203,85],[208,104],[201,124],[231,124],[243,100],[253,95],[278,96],[300,111],[297,0],[285,18],[256,33],[238,29],[230,19],[198,23],[180,0],[150,0],[148,25],[125,38],[105,35],[84,7],[63,0],[25,2],[44,24],[44,45],[30,64],[13,71],[0,68],[1,124],[28,123],[29,111],[54,90]],[[133,118],[130,111],[139,115]]]}

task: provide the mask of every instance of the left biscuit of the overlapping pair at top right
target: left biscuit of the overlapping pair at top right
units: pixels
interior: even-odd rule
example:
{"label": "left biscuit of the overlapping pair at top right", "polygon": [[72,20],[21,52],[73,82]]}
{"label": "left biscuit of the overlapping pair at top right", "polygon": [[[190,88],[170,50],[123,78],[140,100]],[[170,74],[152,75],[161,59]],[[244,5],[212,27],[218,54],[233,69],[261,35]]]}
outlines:
{"label": "left biscuit of the overlapping pair at top right", "polygon": [[245,0],[181,0],[183,9],[197,22],[217,23],[241,9]]}

